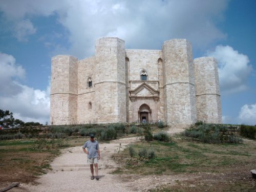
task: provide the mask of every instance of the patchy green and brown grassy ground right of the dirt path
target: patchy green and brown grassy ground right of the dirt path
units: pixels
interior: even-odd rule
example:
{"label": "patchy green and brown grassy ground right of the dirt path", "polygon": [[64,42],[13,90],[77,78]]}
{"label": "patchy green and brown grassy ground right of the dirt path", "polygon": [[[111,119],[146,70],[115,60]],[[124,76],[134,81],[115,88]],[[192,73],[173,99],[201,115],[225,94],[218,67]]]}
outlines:
{"label": "patchy green and brown grassy ground right of the dirt path", "polygon": [[140,142],[133,145],[153,149],[156,157],[151,160],[131,158],[129,149],[115,154],[120,165],[114,174],[138,176],[183,175],[186,181],[175,181],[150,191],[256,191],[250,170],[256,165],[256,143],[206,144],[178,137],[173,142]]}

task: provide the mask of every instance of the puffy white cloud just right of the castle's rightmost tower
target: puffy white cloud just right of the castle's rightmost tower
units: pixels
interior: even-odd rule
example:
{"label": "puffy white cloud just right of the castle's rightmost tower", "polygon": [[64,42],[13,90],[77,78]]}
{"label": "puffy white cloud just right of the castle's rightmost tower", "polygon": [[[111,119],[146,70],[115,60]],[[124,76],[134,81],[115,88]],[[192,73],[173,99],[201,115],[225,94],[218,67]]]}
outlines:
{"label": "puffy white cloud just right of the castle's rightmost tower", "polygon": [[219,62],[219,78],[222,93],[234,93],[247,89],[247,79],[252,71],[247,55],[230,46],[219,45],[215,51],[207,52]]}

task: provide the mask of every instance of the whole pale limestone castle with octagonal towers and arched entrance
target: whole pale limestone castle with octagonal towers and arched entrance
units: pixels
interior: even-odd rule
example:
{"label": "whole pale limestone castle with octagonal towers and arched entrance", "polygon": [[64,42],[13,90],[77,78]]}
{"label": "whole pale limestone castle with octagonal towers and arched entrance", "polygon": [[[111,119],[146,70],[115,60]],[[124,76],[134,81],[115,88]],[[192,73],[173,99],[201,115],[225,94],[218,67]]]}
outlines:
{"label": "whole pale limestone castle with octagonal towers and arched entrance", "polygon": [[51,70],[53,125],[222,121],[217,61],[193,60],[186,39],[164,41],[162,50],[133,50],[122,39],[103,37],[95,56],[57,55]]}

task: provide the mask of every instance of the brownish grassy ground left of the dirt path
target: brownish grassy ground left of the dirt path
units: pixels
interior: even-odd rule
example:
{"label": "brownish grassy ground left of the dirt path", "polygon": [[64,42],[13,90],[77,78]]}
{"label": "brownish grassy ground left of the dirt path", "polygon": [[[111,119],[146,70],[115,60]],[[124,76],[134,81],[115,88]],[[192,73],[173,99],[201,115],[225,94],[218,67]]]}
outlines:
{"label": "brownish grassy ground left of the dirt path", "polygon": [[60,149],[82,145],[86,138],[19,139],[0,141],[0,185],[32,182],[50,169],[50,162]]}

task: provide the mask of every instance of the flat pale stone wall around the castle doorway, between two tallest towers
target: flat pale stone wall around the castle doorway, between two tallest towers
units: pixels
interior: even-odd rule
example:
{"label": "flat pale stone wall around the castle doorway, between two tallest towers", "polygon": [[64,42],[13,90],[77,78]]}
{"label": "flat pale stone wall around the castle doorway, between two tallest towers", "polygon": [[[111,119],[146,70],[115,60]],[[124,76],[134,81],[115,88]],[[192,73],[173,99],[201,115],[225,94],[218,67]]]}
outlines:
{"label": "flat pale stone wall around the castle doorway, between two tallest towers", "polygon": [[[129,86],[130,90],[135,90],[140,86],[144,81],[140,80],[140,72],[142,70],[146,70],[147,73],[147,81],[152,88],[155,90],[159,90],[159,70],[158,70],[158,59],[162,58],[161,50],[125,50],[126,63],[129,63],[129,69],[127,69],[126,74],[129,75]],[[128,62],[129,61],[129,62]],[[129,96],[129,91],[126,91],[127,96]],[[143,93],[140,93],[143,94]],[[144,104],[143,100],[139,100],[136,103]],[[138,113],[134,114],[134,110],[138,110],[140,106],[137,106],[136,103],[132,103],[129,98],[127,98],[127,117],[129,122],[134,122],[138,120]],[[154,108],[156,113],[152,116],[152,120],[156,121],[157,119],[163,119],[163,108],[161,104],[163,103],[163,98],[160,98],[158,101],[152,99],[148,106],[151,109]],[[138,109],[137,109],[138,108]],[[161,110],[160,110],[161,108]]]}

